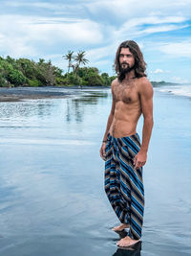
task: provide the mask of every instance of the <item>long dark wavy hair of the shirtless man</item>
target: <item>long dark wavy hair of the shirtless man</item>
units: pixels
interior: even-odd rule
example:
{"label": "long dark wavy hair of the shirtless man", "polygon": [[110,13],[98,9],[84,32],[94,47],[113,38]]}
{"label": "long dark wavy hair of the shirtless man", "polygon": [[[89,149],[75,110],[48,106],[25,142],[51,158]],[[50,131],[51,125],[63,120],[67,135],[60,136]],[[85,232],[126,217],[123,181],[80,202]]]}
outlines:
{"label": "long dark wavy hair of the shirtless man", "polygon": [[122,42],[117,49],[115,59],[115,70],[117,72],[118,80],[123,81],[125,78],[124,74],[121,74],[121,65],[119,63],[119,54],[121,48],[129,48],[129,51],[134,55],[135,58],[135,76],[136,78],[146,77],[146,62],[144,61],[143,55],[138,47],[138,44],[133,40],[127,40]]}

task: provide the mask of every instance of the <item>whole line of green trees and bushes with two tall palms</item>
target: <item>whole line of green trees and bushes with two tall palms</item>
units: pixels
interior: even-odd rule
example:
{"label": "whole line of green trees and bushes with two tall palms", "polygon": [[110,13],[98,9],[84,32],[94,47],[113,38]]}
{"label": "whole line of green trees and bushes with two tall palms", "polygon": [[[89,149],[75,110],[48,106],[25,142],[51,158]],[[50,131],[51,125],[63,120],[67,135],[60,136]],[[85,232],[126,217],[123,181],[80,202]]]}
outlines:
{"label": "whole line of green trees and bushes with two tall palms", "polygon": [[[39,58],[33,61],[28,58],[0,57],[0,86],[70,86],[70,85],[110,85],[116,77],[107,73],[99,74],[96,67],[87,67],[89,60],[85,51],[68,51],[63,56],[68,60],[68,70],[53,65],[51,60]],[[81,67],[83,65],[83,67]]]}

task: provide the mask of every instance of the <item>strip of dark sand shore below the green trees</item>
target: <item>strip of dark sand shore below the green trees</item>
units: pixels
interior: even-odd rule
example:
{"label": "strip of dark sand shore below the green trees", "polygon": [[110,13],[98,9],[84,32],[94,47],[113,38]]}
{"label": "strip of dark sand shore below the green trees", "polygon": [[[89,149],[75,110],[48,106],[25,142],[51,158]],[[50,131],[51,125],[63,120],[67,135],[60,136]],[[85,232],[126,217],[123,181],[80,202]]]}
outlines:
{"label": "strip of dark sand shore below the green trees", "polygon": [[[109,86],[43,86],[43,87],[0,87],[1,102],[20,102],[23,100],[61,99],[80,94],[87,89],[105,89]],[[75,90],[75,91],[74,91]]]}

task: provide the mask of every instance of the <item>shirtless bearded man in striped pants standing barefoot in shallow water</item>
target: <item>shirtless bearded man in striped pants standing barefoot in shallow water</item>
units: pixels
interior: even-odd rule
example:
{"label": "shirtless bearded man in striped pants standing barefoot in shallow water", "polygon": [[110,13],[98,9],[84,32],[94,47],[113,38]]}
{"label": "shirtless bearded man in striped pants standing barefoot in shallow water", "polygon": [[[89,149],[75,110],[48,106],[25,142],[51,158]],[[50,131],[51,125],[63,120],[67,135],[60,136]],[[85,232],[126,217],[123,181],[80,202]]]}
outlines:
{"label": "shirtless bearded man in striped pants standing barefoot in shallow water", "polygon": [[[105,160],[105,192],[121,222],[114,231],[129,229],[118,246],[138,243],[144,212],[142,166],[146,163],[153,128],[153,87],[138,44],[122,42],[115,60],[117,79],[112,82],[113,104],[100,149]],[[137,133],[143,114],[142,143]]]}

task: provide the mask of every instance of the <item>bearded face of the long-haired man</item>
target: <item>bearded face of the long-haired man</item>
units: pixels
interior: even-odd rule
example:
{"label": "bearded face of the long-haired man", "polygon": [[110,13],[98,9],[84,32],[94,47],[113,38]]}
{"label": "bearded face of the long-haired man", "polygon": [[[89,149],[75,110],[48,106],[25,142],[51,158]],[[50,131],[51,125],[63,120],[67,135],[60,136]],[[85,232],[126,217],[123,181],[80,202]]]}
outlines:
{"label": "bearded face of the long-haired man", "polygon": [[129,48],[121,48],[119,54],[119,63],[121,71],[129,72],[135,65],[134,55],[129,51]]}

